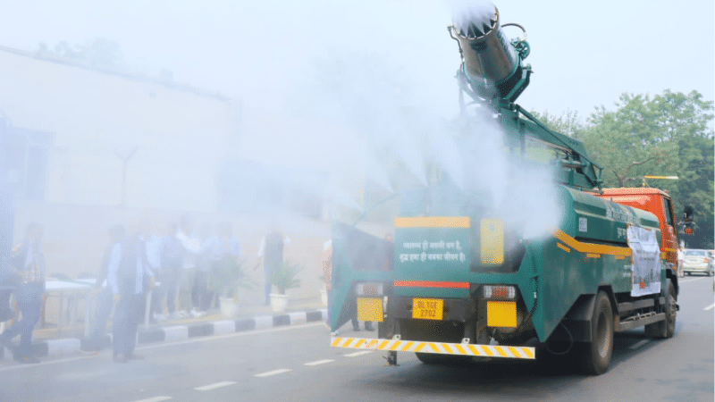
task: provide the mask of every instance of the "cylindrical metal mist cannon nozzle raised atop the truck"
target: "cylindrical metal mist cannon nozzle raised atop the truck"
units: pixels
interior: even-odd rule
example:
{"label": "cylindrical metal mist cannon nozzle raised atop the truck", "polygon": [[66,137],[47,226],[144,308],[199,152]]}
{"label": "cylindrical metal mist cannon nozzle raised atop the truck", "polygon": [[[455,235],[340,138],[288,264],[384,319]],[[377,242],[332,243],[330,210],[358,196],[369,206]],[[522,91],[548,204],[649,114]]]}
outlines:
{"label": "cylindrical metal mist cannon nozzle raised atop the truck", "polygon": [[[531,66],[522,61],[529,54],[525,37],[509,39],[499,21],[499,10],[489,2],[469,4],[452,18],[450,36],[462,55],[460,81],[472,96],[514,102],[529,84]],[[504,24],[503,26],[517,26]]]}

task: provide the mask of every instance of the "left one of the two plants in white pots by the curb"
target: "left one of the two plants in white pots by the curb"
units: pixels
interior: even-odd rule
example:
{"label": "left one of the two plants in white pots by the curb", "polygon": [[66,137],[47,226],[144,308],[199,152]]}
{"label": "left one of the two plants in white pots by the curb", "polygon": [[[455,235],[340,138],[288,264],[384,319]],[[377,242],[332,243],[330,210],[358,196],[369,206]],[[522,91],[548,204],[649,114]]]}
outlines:
{"label": "left one of the two plants in white pots by the curb", "polygon": [[214,265],[209,281],[210,289],[219,299],[219,308],[224,317],[238,313],[240,289],[250,289],[251,282],[243,272],[243,261],[227,256]]}

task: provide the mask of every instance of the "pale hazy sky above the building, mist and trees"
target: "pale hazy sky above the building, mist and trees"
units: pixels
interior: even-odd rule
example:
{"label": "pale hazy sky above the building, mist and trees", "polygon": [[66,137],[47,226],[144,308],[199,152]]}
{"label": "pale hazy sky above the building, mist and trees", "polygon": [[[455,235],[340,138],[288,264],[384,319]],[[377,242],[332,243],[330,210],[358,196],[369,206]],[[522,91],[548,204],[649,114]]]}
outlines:
{"label": "pale hazy sky above the building, mist and trees", "polygon": [[[459,56],[446,0],[0,3],[2,46],[109,38],[133,71],[167,69],[174,80],[240,97],[248,107],[280,111],[309,99],[316,62],[337,57],[380,59],[390,67],[385,80],[407,85],[416,103],[447,118],[458,110]],[[523,25],[531,45],[526,63],[534,75],[517,100],[526,110],[570,109],[585,118],[597,105],[613,109],[624,92],[665,89],[715,100],[711,0],[495,4],[502,24]],[[505,33],[521,35],[515,27]]]}

